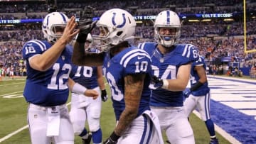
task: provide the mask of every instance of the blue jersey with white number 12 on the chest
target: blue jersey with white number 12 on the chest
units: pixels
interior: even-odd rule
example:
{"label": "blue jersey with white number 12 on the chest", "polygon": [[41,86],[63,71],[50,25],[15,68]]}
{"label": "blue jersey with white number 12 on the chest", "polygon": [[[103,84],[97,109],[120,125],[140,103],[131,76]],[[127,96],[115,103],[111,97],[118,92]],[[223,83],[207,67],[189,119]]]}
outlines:
{"label": "blue jersey with white number 12 on the chest", "polygon": [[67,45],[55,64],[45,72],[34,70],[29,58],[40,55],[52,45],[47,41],[30,40],[23,45],[23,60],[26,60],[27,78],[23,95],[26,101],[40,106],[57,106],[68,100],[68,77],[72,70],[71,45]]}

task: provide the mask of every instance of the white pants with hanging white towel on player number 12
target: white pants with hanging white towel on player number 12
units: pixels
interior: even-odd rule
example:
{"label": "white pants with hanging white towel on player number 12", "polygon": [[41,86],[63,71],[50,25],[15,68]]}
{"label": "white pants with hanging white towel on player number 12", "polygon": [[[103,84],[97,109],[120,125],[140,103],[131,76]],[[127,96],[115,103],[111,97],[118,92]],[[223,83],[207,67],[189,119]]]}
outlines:
{"label": "white pants with hanging white towel on player number 12", "polygon": [[50,141],[58,144],[74,143],[73,126],[65,104],[52,107],[29,104],[28,126],[32,144],[50,144]]}

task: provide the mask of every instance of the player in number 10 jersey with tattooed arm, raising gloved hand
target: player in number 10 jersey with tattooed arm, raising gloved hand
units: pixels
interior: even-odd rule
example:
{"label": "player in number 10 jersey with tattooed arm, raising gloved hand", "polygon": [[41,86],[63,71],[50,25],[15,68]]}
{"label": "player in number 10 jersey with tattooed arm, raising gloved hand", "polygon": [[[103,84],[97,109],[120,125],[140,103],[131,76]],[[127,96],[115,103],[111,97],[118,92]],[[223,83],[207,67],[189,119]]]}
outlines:
{"label": "player in number 10 jersey with tattooed arm, raising gloved hand", "polygon": [[[83,19],[90,20],[91,17]],[[94,40],[98,40],[96,48],[102,50],[99,54],[84,52],[82,37],[93,28],[92,22],[86,21],[86,24],[80,28],[73,62],[104,67],[117,121],[114,131],[104,143],[164,143],[159,120],[149,107],[150,56],[144,50],[129,45],[135,33],[134,17],[122,9],[110,9],[100,16],[96,23],[100,34],[92,35]]]}

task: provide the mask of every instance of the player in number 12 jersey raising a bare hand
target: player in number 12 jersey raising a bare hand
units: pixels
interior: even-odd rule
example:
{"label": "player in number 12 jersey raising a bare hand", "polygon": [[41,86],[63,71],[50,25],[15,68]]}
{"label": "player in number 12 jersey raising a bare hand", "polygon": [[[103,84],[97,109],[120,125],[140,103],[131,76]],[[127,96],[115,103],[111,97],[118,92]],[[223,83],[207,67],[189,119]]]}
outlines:
{"label": "player in number 12 jersey raising a bare hand", "polygon": [[97,92],[86,89],[69,78],[71,48],[68,43],[79,33],[75,17],[49,13],[43,19],[47,40],[29,40],[23,45],[27,78],[23,95],[28,102],[28,126],[31,143],[74,143],[73,126],[68,108],[69,89],[97,98]]}

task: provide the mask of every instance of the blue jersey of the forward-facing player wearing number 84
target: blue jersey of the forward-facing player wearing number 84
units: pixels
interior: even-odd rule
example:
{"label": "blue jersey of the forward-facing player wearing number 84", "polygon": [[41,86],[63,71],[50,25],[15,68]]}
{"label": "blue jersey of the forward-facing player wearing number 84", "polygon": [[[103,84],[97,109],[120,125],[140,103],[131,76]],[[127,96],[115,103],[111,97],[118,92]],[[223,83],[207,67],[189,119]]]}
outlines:
{"label": "blue jersey of the forward-facing player wearing number 84", "polygon": [[[161,54],[156,43],[142,43],[139,48],[146,50],[152,60],[152,74],[161,79],[176,79],[178,67],[198,60],[198,48],[189,44],[175,45],[173,50]],[[166,89],[152,90],[151,106],[183,106],[183,94]]]}

